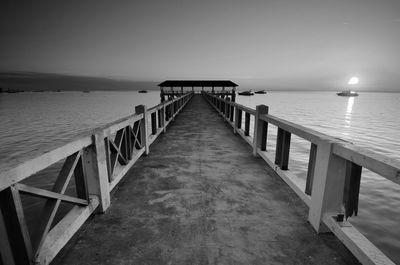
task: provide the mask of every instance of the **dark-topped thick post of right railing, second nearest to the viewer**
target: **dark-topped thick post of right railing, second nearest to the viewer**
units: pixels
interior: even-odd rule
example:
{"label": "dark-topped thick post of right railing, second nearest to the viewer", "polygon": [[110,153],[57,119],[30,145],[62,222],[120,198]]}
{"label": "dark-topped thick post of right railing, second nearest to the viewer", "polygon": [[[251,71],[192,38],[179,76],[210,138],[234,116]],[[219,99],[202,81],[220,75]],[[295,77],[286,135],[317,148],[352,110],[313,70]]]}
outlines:
{"label": "dark-topped thick post of right railing, second nearest to the viewer", "polygon": [[267,141],[268,123],[260,120],[260,115],[268,114],[268,106],[258,105],[254,115],[253,155],[257,156],[257,149],[265,151]]}

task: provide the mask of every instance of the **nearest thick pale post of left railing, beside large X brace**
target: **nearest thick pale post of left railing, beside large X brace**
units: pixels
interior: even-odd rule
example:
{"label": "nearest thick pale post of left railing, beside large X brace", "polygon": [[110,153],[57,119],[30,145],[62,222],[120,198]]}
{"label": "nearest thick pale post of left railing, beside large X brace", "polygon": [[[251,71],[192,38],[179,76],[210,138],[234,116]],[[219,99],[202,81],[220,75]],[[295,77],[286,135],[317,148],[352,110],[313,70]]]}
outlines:
{"label": "nearest thick pale post of left railing, beside large X brace", "polygon": [[90,195],[99,197],[98,211],[102,213],[110,206],[110,186],[104,138],[103,132],[93,135],[93,145],[85,148],[82,153],[88,192]]}

